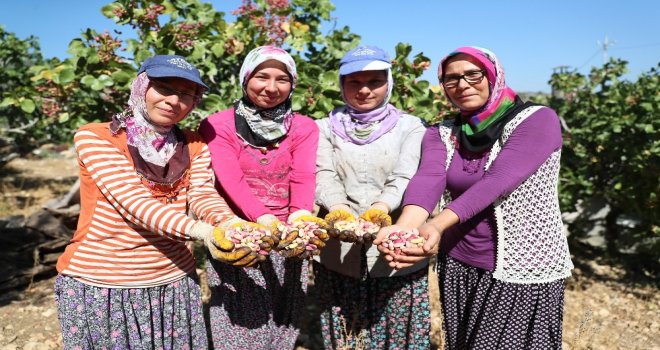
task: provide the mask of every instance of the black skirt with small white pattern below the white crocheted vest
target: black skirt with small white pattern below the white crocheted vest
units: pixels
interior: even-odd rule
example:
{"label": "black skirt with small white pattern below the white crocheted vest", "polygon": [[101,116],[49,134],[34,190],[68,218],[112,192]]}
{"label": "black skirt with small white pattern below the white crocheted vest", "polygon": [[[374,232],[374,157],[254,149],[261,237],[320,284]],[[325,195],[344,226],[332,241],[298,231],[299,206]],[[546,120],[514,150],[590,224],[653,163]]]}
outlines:
{"label": "black skirt with small white pattern below the white crocheted vest", "polygon": [[564,281],[517,284],[438,255],[446,349],[561,349]]}

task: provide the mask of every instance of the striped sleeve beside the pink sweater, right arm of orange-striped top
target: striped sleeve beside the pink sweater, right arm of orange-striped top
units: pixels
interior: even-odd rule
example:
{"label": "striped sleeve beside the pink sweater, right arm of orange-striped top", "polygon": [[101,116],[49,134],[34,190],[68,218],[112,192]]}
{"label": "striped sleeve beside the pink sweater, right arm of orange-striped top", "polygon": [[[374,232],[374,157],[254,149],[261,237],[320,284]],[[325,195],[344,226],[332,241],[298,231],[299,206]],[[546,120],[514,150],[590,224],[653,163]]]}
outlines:
{"label": "striped sleeve beside the pink sweater, right arm of orange-striped top", "polygon": [[212,225],[218,225],[236,216],[214,187],[211,154],[206,144],[193,158],[188,192],[190,209],[195,215]]}

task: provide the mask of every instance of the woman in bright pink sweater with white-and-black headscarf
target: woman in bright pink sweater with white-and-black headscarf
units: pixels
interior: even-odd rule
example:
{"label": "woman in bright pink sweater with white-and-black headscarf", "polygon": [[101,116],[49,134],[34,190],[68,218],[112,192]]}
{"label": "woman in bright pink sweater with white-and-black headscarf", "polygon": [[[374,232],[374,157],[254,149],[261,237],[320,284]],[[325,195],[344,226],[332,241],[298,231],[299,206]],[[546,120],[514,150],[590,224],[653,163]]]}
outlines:
{"label": "woman in bright pink sweater with white-and-black headscarf", "polygon": [[[216,188],[239,216],[272,226],[309,215],[319,131],[291,111],[297,74],[284,50],[262,46],[240,70],[242,98],[202,121]],[[216,349],[292,349],[307,291],[307,261],[273,252],[259,268],[207,262]],[[224,264],[226,265],[226,264]]]}

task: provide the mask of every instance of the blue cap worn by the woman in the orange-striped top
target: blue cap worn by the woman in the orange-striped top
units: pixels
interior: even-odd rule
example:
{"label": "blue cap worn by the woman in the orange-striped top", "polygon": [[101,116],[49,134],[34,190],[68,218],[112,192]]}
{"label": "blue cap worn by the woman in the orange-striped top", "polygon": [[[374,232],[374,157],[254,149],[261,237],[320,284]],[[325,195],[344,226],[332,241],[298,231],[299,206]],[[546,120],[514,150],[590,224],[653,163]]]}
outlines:
{"label": "blue cap worn by the woman in the orange-striped top", "polygon": [[209,88],[202,81],[197,68],[181,56],[156,55],[150,57],[142,63],[138,70],[138,74],[142,72],[147,72],[149,78],[181,78],[201,85],[205,89]]}

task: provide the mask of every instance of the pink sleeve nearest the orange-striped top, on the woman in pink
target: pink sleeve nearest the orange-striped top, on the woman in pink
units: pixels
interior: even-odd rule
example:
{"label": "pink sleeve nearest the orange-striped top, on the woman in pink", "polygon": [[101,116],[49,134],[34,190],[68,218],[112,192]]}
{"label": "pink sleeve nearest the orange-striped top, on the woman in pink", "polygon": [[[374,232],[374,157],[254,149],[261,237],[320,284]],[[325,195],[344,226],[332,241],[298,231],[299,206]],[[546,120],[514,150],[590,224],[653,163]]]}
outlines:
{"label": "pink sleeve nearest the orange-striped top, on the woman in pink", "polygon": [[[221,112],[224,113],[224,112]],[[211,152],[213,172],[227,196],[247,220],[255,221],[270,211],[252,193],[238,161],[240,143],[229,125],[223,124],[222,115],[212,115],[202,121],[199,133]],[[215,121],[211,119],[217,118]]]}

